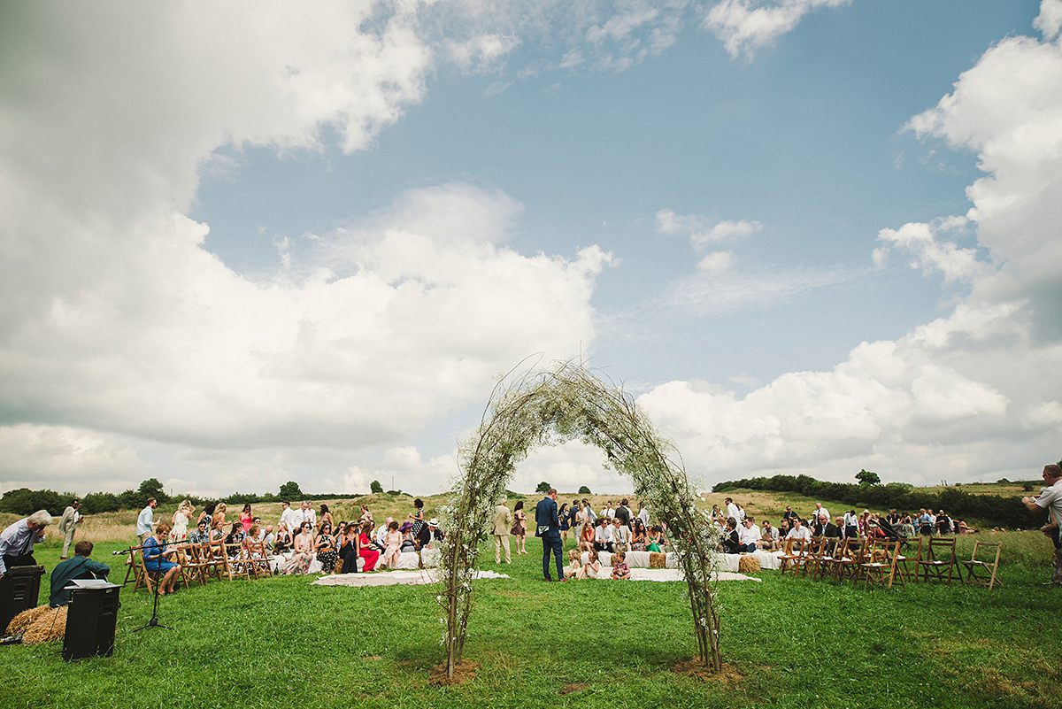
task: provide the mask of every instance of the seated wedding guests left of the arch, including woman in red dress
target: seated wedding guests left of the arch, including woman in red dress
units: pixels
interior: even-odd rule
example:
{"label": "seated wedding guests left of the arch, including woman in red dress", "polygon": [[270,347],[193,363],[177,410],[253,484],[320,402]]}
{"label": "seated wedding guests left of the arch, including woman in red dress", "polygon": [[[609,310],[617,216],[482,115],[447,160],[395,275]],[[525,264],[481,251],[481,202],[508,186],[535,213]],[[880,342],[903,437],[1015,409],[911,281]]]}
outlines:
{"label": "seated wedding guests left of the arch, including woman in red dress", "polygon": [[[284,555],[280,568],[286,574],[307,573],[310,565],[321,563],[323,573],[355,573],[394,569],[402,552],[430,549],[443,537],[436,519],[425,520],[424,502],[413,501],[413,512],[399,523],[388,517],[379,526],[366,505],[361,505],[356,520],[337,521],[327,504],[314,509],[309,502],[294,508],[281,503],[276,526],[262,523],[250,504],[244,504],[236,519],[228,519],[224,502],[209,502],[200,511],[194,525],[195,507],[188,500],[177,505],[173,523],[155,521],[154,499],[137,519],[137,536],[143,551],[144,566],[158,572],[159,593],[174,590],[179,575],[179,555],[187,546],[211,546],[212,554],[230,557],[263,558]],[[359,569],[360,560],[360,569]]]}

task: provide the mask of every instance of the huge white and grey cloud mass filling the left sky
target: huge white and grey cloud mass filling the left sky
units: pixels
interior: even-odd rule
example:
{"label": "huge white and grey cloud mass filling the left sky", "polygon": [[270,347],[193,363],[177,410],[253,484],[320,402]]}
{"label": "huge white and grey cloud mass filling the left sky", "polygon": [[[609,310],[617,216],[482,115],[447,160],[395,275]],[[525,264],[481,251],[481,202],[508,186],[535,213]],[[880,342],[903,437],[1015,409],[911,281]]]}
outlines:
{"label": "huge white and grey cloud mass filling the left sky", "polygon": [[[86,469],[110,455],[116,475],[147,473],[152,450],[189,491],[299,470],[306,489],[357,487],[352,452],[593,340],[609,256],[516,253],[521,207],[499,192],[411,190],[306,254],[279,239],[290,267],[254,280],[203,248],[208,225],[184,211],[217,148],[320,150],[333,126],[358,150],[422,98],[435,51],[406,4],[373,7],[35,3],[7,33],[0,421],[25,472],[0,485],[66,479],[54,446],[19,433],[33,421]],[[469,62],[504,53],[487,39]]]}

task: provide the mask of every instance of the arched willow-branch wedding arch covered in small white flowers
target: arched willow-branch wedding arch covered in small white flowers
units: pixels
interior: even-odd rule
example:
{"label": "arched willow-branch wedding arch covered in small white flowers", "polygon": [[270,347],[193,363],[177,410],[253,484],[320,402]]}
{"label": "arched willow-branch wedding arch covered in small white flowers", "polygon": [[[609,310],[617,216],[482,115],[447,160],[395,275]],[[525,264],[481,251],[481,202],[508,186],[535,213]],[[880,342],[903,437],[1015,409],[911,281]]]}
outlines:
{"label": "arched willow-branch wedding arch covered in small white flowers", "polygon": [[442,547],[446,610],[446,667],[462,658],[472,612],[472,580],[480,542],[491,533],[495,504],[504,498],[516,463],[529,450],[579,439],[600,448],[634,492],[668,525],[679,550],[702,662],[718,671],[719,617],[712,588],[718,530],[704,509],[674,448],[664,440],[634,399],[571,363],[509,378],[495,387],[483,419],[460,449],[461,477],[443,511],[448,533]]}

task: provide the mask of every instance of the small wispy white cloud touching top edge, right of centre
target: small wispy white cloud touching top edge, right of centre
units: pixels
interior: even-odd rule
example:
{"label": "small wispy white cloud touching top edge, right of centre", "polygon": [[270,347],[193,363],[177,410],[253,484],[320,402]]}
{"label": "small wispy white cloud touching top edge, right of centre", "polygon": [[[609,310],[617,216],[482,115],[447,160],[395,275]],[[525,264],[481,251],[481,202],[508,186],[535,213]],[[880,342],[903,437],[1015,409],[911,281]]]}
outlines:
{"label": "small wispy white cloud touching top edge, right of centre", "polygon": [[704,16],[702,27],[720,40],[732,57],[756,50],[791,32],[804,15],[837,7],[849,0],[722,0]]}

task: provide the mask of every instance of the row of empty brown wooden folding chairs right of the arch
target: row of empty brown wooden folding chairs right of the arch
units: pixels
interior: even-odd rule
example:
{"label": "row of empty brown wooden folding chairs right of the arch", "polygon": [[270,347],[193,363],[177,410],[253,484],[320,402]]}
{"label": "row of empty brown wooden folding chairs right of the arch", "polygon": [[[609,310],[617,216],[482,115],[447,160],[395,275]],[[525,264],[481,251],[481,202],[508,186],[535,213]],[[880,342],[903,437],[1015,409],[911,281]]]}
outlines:
{"label": "row of empty brown wooden folding chairs right of the arch", "polygon": [[810,540],[786,539],[782,553],[782,574],[811,576],[816,581],[830,577],[835,582],[849,581],[863,588],[871,584],[892,588],[895,582],[905,586],[912,583],[944,582],[948,585],[962,569],[966,570],[965,583],[993,588],[1000,585],[996,577],[999,568],[999,542],[975,541],[969,560],[956,560],[955,537],[920,537],[918,555],[912,561],[903,553],[903,539],[834,539],[816,537]]}

